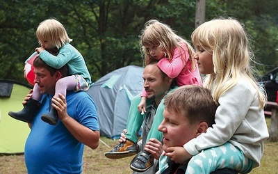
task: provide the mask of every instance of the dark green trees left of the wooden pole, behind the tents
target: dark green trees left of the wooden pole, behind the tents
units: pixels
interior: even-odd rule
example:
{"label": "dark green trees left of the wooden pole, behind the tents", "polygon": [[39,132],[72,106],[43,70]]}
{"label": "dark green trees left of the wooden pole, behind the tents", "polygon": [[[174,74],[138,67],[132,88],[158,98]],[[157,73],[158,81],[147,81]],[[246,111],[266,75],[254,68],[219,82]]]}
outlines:
{"label": "dark green trees left of the wooden pole, behind the tents", "polygon": [[[24,61],[38,47],[35,29],[48,17],[56,17],[64,24],[74,40],[72,45],[83,54],[94,80],[125,65],[142,65],[138,35],[148,19],[159,19],[187,38],[194,24],[195,5],[191,1],[48,0],[37,3],[27,0],[1,3],[3,9],[8,7],[5,10],[8,15],[2,24],[14,21],[13,35],[16,33],[15,38],[5,37],[8,44],[3,43],[7,47],[15,47],[17,40],[17,45],[20,45],[15,53],[18,56],[6,52],[6,58],[13,58],[13,61],[6,62],[8,59],[2,54],[3,63],[8,64],[7,75],[3,78],[17,80],[22,79],[19,72]],[[19,13],[13,13],[13,10],[19,10]],[[3,33],[12,31],[5,26],[1,29]],[[12,70],[15,76],[8,76]]]}

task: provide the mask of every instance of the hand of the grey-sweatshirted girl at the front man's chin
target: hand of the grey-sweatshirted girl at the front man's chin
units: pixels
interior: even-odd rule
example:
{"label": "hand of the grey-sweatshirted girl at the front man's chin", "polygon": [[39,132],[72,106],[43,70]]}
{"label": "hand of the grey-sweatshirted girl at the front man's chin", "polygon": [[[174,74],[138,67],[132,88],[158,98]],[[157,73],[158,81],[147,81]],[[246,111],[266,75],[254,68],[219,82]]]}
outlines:
{"label": "hand of the grey-sweatshirted girl at the front man's chin", "polygon": [[192,157],[183,147],[170,147],[165,150],[165,155],[172,161],[179,164],[185,164]]}

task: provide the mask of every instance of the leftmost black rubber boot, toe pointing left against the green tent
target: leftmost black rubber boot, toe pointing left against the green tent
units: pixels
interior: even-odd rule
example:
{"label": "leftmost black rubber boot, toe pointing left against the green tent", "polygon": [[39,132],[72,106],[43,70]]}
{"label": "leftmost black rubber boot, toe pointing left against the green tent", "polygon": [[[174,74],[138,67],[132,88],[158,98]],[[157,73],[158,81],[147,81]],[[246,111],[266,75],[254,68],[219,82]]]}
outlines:
{"label": "leftmost black rubber boot, toe pointing left against the green tent", "polygon": [[19,112],[9,111],[8,115],[17,120],[32,123],[33,118],[35,116],[35,112],[38,109],[38,103],[39,102],[37,100],[33,100],[31,98],[31,100],[26,101],[26,104],[24,104],[24,108],[22,109],[22,111]]}

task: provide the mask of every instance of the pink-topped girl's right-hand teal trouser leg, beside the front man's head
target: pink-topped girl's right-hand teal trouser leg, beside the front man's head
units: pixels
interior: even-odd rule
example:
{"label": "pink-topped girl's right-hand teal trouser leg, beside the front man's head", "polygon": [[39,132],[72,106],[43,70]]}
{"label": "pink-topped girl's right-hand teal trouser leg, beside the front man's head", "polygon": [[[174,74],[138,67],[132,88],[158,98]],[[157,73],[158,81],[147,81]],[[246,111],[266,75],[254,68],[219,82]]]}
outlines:
{"label": "pink-topped girl's right-hand teal trouser leg, beside the front man's head", "polygon": [[156,114],[154,115],[154,122],[152,122],[152,127],[149,130],[149,134],[147,136],[146,142],[149,141],[149,139],[154,138],[157,139],[158,141],[162,141],[163,135],[162,132],[158,131],[158,126],[161,124],[163,121],[163,111],[164,111],[164,97],[161,100],[161,102],[158,104],[158,107],[156,109]]}

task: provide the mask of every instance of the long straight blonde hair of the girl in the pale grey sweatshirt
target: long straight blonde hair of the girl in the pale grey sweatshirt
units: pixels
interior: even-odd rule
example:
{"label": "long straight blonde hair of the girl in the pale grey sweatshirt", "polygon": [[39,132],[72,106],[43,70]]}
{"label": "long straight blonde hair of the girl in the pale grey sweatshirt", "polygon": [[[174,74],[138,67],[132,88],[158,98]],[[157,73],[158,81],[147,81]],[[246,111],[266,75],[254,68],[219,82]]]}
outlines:
{"label": "long straight blonde hair of the girl in the pale grey sweatshirt", "polygon": [[233,87],[239,79],[250,81],[258,91],[263,108],[266,97],[263,89],[254,79],[250,61],[254,62],[254,54],[250,49],[250,38],[244,27],[236,19],[213,19],[205,22],[193,31],[193,45],[198,45],[213,52],[214,73],[206,75],[204,87],[212,90],[213,100]]}

